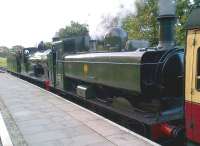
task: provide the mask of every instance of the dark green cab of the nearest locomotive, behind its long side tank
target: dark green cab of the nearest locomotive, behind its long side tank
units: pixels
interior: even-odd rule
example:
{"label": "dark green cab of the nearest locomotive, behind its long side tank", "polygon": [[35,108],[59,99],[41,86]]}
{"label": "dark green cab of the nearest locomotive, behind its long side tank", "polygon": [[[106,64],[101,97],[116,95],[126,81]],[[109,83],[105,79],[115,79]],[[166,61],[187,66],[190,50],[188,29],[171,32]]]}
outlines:
{"label": "dark green cab of the nearest locomotive, behind its long side tank", "polygon": [[86,34],[83,36],[74,36],[61,40],[54,39],[52,53],[48,56],[50,67],[50,80],[53,86],[59,90],[64,90],[64,63],[66,55],[84,53],[89,50],[90,37]]}

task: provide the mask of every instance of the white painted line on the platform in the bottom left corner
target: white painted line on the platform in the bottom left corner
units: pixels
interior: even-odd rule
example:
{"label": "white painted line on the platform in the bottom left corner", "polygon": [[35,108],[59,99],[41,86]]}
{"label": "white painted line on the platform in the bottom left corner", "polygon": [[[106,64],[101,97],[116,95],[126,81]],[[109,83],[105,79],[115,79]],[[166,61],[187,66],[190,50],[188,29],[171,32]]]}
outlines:
{"label": "white painted line on the platform in the bottom left corner", "polygon": [[0,137],[3,146],[13,146],[1,112],[0,112]]}

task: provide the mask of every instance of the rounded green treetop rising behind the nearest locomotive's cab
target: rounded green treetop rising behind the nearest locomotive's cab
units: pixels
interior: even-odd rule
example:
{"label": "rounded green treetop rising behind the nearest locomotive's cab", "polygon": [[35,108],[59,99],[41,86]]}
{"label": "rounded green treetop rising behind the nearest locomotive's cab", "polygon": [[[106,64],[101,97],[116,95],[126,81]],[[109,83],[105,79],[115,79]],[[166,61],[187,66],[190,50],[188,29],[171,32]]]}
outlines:
{"label": "rounded green treetop rising behind the nearest locomotive's cab", "polygon": [[70,25],[67,25],[65,28],[61,28],[57,34],[60,38],[66,38],[71,36],[87,35],[88,32],[87,24],[80,24],[78,22],[71,21]]}

